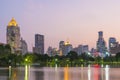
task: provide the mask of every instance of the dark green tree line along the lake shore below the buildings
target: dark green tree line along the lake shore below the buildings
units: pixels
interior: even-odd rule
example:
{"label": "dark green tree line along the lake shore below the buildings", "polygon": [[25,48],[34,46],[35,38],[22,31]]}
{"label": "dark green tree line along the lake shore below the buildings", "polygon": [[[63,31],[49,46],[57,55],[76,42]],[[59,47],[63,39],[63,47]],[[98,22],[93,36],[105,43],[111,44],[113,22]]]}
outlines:
{"label": "dark green tree line along the lake shore below the buildings", "polygon": [[120,52],[116,56],[104,58],[93,57],[87,53],[78,55],[70,51],[66,56],[48,56],[47,54],[26,53],[25,55],[11,53],[9,45],[0,44],[0,66],[81,66],[88,64],[120,64]]}

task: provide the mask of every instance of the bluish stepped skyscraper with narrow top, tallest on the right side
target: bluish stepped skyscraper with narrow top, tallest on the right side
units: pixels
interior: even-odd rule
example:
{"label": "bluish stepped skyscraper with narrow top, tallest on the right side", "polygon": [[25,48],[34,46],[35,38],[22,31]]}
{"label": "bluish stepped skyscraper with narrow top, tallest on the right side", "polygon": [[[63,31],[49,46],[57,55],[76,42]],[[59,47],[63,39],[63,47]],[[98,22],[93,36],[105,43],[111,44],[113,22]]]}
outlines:
{"label": "bluish stepped skyscraper with narrow top, tallest on the right side", "polygon": [[98,41],[97,41],[97,51],[101,53],[101,56],[103,57],[107,51],[106,43],[103,38],[103,32],[98,32]]}

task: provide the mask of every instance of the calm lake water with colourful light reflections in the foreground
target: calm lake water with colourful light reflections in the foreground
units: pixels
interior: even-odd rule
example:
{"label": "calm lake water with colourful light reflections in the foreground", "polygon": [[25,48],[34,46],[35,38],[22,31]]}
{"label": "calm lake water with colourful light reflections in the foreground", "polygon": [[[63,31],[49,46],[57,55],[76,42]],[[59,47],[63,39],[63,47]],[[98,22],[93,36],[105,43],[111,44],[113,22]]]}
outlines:
{"label": "calm lake water with colourful light reflections in the foreground", "polygon": [[120,80],[120,68],[94,67],[6,67],[0,80]]}

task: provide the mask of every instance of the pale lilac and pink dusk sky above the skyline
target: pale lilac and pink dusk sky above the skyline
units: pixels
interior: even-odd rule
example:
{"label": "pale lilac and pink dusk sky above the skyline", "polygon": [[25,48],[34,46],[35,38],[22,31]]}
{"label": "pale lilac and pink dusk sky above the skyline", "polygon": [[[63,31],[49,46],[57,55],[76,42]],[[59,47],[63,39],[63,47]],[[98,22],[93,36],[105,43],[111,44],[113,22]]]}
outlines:
{"label": "pale lilac and pink dusk sky above the skyline", "polygon": [[45,36],[45,50],[69,40],[73,47],[96,47],[98,31],[120,41],[120,0],[0,0],[0,42],[14,17],[29,51],[36,33]]}

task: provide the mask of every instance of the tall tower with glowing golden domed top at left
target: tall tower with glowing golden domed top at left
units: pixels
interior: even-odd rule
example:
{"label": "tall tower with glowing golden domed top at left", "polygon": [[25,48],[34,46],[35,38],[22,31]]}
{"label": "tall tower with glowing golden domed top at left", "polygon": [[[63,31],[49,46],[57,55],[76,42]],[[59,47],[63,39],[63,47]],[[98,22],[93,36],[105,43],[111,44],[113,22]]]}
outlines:
{"label": "tall tower with glowing golden domed top at left", "polygon": [[11,46],[12,53],[20,51],[20,28],[14,18],[7,25],[7,44]]}

